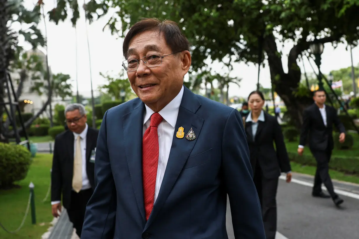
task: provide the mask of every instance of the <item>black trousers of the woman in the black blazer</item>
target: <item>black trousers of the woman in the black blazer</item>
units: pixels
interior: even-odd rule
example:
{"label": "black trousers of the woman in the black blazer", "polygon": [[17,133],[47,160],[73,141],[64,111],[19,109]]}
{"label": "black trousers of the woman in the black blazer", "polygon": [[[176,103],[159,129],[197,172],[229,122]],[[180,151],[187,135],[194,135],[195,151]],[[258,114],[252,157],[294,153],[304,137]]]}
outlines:
{"label": "black trousers of the woman in the black blazer", "polygon": [[275,239],[277,231],[277,188],[279,178],[265,178],[257,163],[254,173],[254,184],[257,188],[262,208],[262,219],[267,239]]}

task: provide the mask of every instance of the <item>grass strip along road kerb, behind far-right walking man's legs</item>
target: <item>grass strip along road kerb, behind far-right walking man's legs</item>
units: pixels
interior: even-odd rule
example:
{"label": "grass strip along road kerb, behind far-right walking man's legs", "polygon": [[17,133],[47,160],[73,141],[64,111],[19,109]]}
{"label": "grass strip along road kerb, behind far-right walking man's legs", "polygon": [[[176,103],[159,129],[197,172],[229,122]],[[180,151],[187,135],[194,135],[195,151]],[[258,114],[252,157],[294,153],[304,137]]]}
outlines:
{"label": "grass strip along road kerb, behind far-right walking man's legs", "polygon": [[[315,175],[316,167],[301,165],[299,163],[290,162],[290,166],[292,166],[292,171],[297,173],[303,173],[308,175]],[[359,184],[359,177],[353,175],[346,175],[345,173],[329,170],[330,177],[335,180],[357,183]]]}

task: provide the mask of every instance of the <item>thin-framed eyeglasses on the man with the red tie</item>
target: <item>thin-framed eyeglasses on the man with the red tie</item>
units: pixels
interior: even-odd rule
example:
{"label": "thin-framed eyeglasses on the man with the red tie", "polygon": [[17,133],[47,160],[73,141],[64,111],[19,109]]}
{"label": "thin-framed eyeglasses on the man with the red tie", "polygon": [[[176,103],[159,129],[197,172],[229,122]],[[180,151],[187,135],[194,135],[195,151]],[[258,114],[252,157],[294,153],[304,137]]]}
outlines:
{"label": "thin-framed eyeglasses on the man with the red tie", "polygon": [[[182,51],[178,51],[178,52],[182,52]],[[178,52],[174,52],[165,56],[176,54]],[[159,54],[150,54],[148,56],[142,57],[141,59],[136,59],[136,58],[128,59],[127,61],[122,62],[122,66],[123,68],[125,68],[127,72],[136,71],[140,64],[140,61],[142,60],[147,67],[156,67],[162,64],[162,59],[165,56],[160,56]]]}

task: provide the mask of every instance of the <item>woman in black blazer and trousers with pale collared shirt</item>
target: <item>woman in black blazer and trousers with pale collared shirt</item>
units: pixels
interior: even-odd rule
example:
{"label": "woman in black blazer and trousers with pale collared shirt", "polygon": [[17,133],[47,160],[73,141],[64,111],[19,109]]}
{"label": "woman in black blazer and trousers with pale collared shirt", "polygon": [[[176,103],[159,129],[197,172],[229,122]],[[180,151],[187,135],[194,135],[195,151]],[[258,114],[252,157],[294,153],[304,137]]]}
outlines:
{"label": "woman in black blazer and trousers with pale collared shirt", "polygon": [[274,116],[265,113],[262,109],[264,102],[262,92],[251,92],[248,96],[251,112],[243,119],[243,123],[250,150],[253,181],[262,207],[266,238],[275,239],[277,231],[276,195],[279,176],[281,172],[285,172],[286,182],[289,183],[292,174],[281,127]]}

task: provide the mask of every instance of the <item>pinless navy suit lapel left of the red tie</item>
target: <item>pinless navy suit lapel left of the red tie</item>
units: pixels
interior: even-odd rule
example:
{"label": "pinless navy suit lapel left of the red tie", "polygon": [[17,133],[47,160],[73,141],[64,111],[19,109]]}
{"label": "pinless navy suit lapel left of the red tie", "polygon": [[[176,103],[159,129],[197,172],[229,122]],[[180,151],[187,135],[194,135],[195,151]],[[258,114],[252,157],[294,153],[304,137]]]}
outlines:
{"label": "pinless navy suit lapel left of the red tie", "polygon": [[144,104],[138,99],[134,102],[134,110],[123,116],[123,140],[137,205],[145,221],[142,183],[143,112]]}

